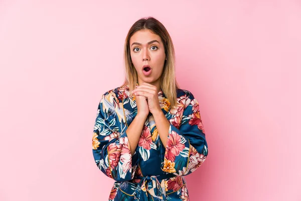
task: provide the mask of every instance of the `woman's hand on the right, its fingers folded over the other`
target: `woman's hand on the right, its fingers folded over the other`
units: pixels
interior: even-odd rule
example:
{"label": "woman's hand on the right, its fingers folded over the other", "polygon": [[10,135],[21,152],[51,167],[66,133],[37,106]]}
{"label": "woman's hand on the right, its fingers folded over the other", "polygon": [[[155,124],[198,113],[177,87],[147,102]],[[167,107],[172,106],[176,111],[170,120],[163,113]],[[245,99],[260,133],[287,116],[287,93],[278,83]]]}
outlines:
{"label": "woman's hand on the right, its fingers folded over the other", "polygon": [[132,93],[134,93],[136,97],[142,96],[145,98],[145,101],[147,100],[148,110],[153,115],[162,112],[156,86],[143,83],[132,90]]}

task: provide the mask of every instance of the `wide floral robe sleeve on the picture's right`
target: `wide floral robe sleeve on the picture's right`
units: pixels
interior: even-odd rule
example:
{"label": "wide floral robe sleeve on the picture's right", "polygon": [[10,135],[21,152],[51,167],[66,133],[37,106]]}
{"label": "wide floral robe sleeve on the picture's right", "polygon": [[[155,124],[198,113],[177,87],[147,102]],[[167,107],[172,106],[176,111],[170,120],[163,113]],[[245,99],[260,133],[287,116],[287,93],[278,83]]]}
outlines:
{"label": "wide floral robe sleeve on the picture's right", "polygon": [[[166,149],[164,146],[161,149],[161,169],[176,175],[192,173],[208,155],[199,103],[190,92],[185,98],[185,104],[178,108],[175,117],[170,120]],[[181,110],[184,111],[180,120]],[[179,129],[176,125],[179,125]]]}

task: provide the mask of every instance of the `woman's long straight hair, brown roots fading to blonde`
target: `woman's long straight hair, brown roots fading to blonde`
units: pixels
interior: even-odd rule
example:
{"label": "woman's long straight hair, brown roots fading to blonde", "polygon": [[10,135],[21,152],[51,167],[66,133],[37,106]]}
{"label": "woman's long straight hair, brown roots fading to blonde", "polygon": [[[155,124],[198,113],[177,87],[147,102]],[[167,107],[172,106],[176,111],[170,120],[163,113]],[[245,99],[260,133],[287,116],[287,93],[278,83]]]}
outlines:
{"label": "woman's long straight hair, brown roots fading to blonde", "polygon": [[166,97],[169,99],[171,108],[177,106],[177,89],[179,84],[175,75],[175,50],[174,45],[166,28],[161,22],[153,17],[141,18],[136,21],[129,29],[124,43],[124,63],[125,63],[125,80],[122,86],[128,85],[129,90],[133,90],[138,80],[137,71],[131,62],[129,39],[137,31],[148,29],[154,34],[160,36],[167,60],[161,76],[161,88]]}

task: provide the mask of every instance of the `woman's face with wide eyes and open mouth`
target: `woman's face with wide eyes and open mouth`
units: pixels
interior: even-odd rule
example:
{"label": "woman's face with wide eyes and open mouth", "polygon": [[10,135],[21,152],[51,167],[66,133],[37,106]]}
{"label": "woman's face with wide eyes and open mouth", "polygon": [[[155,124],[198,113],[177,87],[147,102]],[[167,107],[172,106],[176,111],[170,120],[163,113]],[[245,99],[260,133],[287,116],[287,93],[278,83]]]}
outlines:
{"label": "woman's face with wide eyes and open mouth", "polygon": [[129,39],[129,48],[139,84],[147,82],[160,86],[166,59],[160,36],[148,29],[137,31]]}

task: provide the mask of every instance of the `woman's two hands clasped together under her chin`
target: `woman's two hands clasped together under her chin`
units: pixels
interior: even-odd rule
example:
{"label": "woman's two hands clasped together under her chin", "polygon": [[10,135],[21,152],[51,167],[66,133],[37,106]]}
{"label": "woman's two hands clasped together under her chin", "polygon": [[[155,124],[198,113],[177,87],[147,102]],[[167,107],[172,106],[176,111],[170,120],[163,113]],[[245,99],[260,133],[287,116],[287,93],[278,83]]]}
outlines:
{"label": "woman's two hands clasped together under her chin", "polygon": [[150,112],[155,116],[162,112],[156,86],[149,83],[143,83],[132,90],[131,93],[135,95],[139,114],[147,116],[148,112]]}

